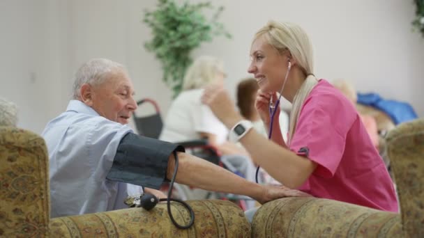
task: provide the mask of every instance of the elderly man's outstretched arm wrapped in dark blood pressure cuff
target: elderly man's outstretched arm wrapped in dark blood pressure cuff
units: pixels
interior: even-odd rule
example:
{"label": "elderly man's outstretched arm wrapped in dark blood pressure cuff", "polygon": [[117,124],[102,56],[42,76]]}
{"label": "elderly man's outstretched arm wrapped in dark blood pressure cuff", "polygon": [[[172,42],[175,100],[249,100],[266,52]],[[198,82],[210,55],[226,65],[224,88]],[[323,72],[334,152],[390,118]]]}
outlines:
{"label": "elderly man's outstretched arm wrapped in dark blood pressure cuff", "polygon": [[[183,152],[183,147],[128,133],[121,139],[107,179],[158,189],[165,178],[174,175],[176,152],[179,168],[176,182],[199,189],[250,196],[259,203],[287,196],[305,196],[286,187],[262,186],[229,170]],[[148,191],[146,192],[149,192]]]}

